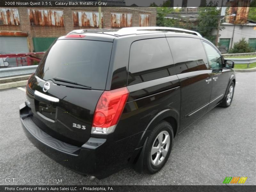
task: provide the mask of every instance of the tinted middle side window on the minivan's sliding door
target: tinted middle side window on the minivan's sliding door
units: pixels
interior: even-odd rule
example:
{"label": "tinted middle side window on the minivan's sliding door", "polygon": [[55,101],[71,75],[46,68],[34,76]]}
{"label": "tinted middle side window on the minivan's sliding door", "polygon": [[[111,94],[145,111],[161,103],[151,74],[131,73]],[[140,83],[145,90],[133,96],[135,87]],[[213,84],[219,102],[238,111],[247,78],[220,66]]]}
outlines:
{"label": "tinted middle side window on the minivan's sliding door", "polygon": [[167,37],[171,47],[176,73],[208,69],[207,58],[200,39]]}

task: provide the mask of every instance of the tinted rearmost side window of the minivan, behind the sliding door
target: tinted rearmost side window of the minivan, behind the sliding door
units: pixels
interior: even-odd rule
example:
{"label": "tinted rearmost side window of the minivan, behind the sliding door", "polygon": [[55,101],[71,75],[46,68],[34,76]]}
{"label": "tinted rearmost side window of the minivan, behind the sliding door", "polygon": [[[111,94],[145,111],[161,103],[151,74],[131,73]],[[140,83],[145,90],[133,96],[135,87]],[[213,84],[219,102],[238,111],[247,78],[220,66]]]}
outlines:
{"label": "tinted rearmost side window of the minivan, behind the sliding door", "polygon": [[128,85],[175,75],[166,38],[135,41],[131,45]]}

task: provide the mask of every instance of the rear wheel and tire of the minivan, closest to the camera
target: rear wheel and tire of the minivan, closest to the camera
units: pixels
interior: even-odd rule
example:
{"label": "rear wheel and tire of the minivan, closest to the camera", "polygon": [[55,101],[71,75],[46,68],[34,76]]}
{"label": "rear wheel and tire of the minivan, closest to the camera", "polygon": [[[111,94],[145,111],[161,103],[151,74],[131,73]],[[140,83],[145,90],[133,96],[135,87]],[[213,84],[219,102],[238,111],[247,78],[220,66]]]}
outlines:
{"label": "rear wheel and tire of the minivan, closest to the camera", "polygon": [[[162,143],[159,140],[162,138]],[[172,125],[161,121],[151,131],[144,154],[144,171],[154,174],[162,169],[172,150]]]}

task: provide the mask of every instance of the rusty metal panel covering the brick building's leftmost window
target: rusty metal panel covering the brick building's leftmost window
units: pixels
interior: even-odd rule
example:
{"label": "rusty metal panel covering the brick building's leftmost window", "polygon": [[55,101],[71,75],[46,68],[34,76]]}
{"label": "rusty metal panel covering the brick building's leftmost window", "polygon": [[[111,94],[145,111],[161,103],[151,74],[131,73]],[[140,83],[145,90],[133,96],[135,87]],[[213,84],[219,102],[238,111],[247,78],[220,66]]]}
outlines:
{"label": "rusty metal panel covering the brick building's leftmost window", "polygon": [[0,8],[0,25],[20,25],[18,9]]}

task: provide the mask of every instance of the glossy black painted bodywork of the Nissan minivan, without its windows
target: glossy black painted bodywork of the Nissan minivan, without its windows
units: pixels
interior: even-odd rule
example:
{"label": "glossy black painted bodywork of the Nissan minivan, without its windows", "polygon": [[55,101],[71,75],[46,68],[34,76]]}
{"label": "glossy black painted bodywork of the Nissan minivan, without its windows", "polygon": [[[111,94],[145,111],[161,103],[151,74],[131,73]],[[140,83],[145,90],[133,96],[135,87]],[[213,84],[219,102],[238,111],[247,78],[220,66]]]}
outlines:
{"label": "glossy black painted bodywork of the Nissan minivan, without its windows", "polygon": [[[165,38],[165,36],[163,33],[112,37],[112,39],[105,34],[86,36],[85,38],[92,40],[113,42],[105,90],[127,86],[129,66],[127,53],[130,52],[132,42],[149,38]],[[168,36],[203,39],[187,34],[168,34]],[[63,38],[60,37],[60,39]],[[177,67],[176,64],[175,66]],[[217,84],[217,81],[206,84],[205,80],[213,76],[218,76],[221,84]],[[60,86],[48,80],[51,89],[44,93],[42,89],[46,81],[34,74],[28,81],[26,91],[30,106],[28,107],[27,104],[20,106],[20,117],[28,139],[47,156],[76,172],[102,179],[129,164],[138,165],[136,169],[141,171],[143,145],[154,125],[161,120],[166,120],[172,124],[174,134],[177,135],[220,103],[232,81],[235,81],[234,71],[221,68],[176,74],[129,85],[127,89],[130,94],[115,131],[108,135],[98,135],[91,134],[92,118],[103,90],[74,88],[69,84]],[[45,101],[35,100],[35,91],[60,99],[57,104],[50,103],[56,110],[52,111],[54,123],[38,115],[39,102]],[[191,92],[195,93],[192,97]],[[224,92],[223,97],[204,107],[222,92]],[[202,106],[203,110],[192,114]],[[51,116],[48,117],[51,118]],[[24,122],[26,118],[30,118],[31,121]],[[85,125],[86,130],[74,128],[72,123]],[[72,154],[65,151],[65,148],[60,150],[45,143],[40,140],[40,136],[35,136],[33,130],[28,129],[33,126],[40,127],[54,139],[77,146],[79,150],[76,154]]]}

